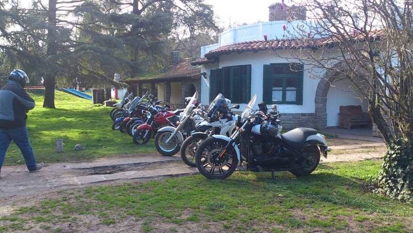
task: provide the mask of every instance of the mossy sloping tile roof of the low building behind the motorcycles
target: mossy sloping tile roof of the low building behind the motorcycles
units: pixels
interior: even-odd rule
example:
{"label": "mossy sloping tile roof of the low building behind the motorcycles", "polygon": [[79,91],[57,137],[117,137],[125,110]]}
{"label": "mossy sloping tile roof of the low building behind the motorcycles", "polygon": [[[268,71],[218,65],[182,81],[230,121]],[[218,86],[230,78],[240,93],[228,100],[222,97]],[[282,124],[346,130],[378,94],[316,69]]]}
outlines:
{"label": "mossy sloping tile roof of the low building behind the motorcycles", "polygon": [[133,78],[122,80],[125,83],[137,83],[137,82],[149,82],[149,81],[177,81],[185,78],[197,79],[201,75],[201,67],[191,65],[191,61],[196,60],[196,57],[179,59],[177,65],[170,65],[163,69],[161,72],[151,76],[145,76],[141,78]]}

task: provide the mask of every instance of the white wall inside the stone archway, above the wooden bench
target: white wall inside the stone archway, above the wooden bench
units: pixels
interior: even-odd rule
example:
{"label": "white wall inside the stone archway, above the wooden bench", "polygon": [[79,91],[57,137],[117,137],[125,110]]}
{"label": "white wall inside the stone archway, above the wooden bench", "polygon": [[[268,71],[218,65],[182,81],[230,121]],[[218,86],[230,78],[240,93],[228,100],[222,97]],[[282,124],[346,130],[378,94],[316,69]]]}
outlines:
{"label": "white wall inside the stone archway, above the wooden bench", "polygon": [[361,110],[366,112],[368,103],[358,96],[360,92],[351,89],[348,80],[334,81],[327,93],[327,127],[339,126],[340,106],[361,105]]}

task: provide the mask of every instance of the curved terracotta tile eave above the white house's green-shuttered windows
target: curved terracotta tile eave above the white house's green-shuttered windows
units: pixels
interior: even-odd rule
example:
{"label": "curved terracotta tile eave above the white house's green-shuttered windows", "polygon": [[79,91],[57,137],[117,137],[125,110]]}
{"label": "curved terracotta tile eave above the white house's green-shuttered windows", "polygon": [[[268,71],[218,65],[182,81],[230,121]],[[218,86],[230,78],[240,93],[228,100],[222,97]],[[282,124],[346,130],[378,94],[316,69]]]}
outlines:
{"label": "curved terracotta tile eave above the white house's green-shuttered windows", "polygon": [[[369,32],[370,40],[379,40],[386,36],[384,30],[374,30]],[[345,36],[352,37],[356,41],[365,41],[366,36],[362,34],[353,35],[352,33]],[[336,45],[343,41],[340,36],[324,37],[318,39],[304,38],[304,39],[275,39],[275,40],[254,40],[240,42],[236,44],[225,45],[215,50],[209,51],[205,57],[196,59],[191,62],[192,65],[202,65],[216,62],[220,55],[243,52],[258,52],[264,50],[280,50],[280,49],[298,49],[298,48],[312,48],[319,49],[325,46]]]}

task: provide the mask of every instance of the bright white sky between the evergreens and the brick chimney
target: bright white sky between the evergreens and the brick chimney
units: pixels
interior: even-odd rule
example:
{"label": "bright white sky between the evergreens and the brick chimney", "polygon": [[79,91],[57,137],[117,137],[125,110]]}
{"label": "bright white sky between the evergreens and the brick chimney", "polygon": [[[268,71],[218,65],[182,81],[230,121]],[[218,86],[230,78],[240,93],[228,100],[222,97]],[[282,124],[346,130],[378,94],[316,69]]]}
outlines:
{"label": "bright white sky between the evergreens and the brick chimney", "polygon": [[[268,21],[268,7],[281,0],[206,0],[219,18],[219,26]],[[289,0],[285,0],[289,4]],[[237,26],[235,25],[235,26]]]}

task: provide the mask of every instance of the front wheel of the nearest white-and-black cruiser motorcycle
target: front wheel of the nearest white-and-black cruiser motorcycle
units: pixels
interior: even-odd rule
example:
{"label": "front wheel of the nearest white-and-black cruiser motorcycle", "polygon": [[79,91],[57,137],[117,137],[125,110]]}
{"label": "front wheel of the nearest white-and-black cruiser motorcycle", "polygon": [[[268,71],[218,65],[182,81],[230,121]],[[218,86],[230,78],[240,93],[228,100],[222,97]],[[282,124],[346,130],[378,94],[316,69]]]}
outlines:
{"label": "front wheel of the nearest white-and-black cruiser motorcycle", "polygon": [[202,142],[195,153],[195,164],[199,172],[208,179],[225,179],[237,169],[238,158],[230,146],[220,157],[227,142],[223,139],[208,138]]}

